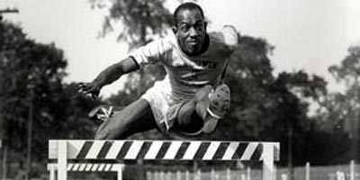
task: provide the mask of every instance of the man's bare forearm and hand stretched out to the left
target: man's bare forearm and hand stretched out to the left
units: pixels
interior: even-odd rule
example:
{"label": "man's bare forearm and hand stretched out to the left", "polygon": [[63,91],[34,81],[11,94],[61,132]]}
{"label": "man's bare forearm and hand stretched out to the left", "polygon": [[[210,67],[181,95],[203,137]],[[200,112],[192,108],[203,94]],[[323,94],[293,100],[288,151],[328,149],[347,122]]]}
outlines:
{"label": "man's bare forearm and hand stretched out to the left", "polygon": [[82,94],[90,94],[95,98],[100,94],[100,90],[104,85],[110,85],[122,75],[137,69],[139,69],[139,65],[134,58],[125,58],[120,62],[105,68],[91,83],[80,83],[78,85],[78,92]]}

